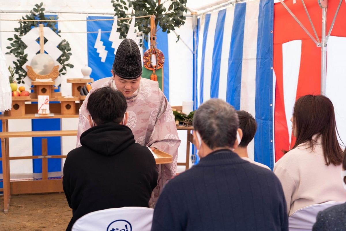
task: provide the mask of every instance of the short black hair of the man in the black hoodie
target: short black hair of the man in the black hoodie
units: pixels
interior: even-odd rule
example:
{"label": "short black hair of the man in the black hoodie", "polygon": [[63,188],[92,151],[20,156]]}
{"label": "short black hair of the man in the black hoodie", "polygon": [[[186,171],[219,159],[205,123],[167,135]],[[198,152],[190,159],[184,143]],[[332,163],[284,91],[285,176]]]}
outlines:
{"label": "short black hair of the man in the black hoodie", "polygon": [[120,123],[127,109],[125,96],[110,87],[96,89],[89,96],[86,105],[89,114],[96,124],[107,122]]}

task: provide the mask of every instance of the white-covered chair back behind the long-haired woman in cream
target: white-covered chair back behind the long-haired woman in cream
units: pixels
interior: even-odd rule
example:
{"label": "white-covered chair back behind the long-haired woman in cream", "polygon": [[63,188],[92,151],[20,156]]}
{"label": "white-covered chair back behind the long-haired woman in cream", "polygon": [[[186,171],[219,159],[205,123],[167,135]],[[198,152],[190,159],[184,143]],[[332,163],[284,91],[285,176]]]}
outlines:
{"label": "white-covered chair back behind the long-haired woman in cream", "polygon": [[307,231],[312,230],[313,224],[316,222],[318,212],[325,210],[333,205],[343,204],[345,202],[329,201],[322,204],[310,205],[295,211],[288,218],[288,226],[290,231]]}

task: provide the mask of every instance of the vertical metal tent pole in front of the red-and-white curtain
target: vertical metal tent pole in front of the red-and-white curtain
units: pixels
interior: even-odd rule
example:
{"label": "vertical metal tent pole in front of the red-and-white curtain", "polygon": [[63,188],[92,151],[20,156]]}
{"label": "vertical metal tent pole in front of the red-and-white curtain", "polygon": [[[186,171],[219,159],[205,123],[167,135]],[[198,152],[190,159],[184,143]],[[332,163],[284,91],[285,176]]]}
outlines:
{"label": "vertical metal tent pole in front of the red-and-white curtain", "polygon": [[321,95],[326,95],[327,79],[327,8],[322,8],[322,38],[321,38]]}

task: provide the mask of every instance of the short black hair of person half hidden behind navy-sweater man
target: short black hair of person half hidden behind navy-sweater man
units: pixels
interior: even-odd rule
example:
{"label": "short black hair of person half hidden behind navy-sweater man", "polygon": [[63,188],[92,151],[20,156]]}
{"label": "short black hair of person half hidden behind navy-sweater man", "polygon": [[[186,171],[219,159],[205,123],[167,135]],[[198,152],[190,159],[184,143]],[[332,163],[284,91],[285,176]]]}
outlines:
{"label": "short black hair of person half hidden behind navy-sweater man", "polygon": [[256,119],[244,110],[237,111],[237,114],[239,118],[239,128],[243,131],[243,138],[239,146],[245,148],[252,139],[254,139],[257,130],[257,123]]}

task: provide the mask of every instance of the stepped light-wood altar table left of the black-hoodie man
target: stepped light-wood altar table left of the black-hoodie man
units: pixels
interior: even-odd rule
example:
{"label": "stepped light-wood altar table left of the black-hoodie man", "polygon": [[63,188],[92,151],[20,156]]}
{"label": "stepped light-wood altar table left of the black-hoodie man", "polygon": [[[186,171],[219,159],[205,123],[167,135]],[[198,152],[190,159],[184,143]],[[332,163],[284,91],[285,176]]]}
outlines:
{"label": "stepped light-wood altar table left of the black-hoodie man", "polygon": [[[33,99],[34,100],[34,99]],[[57,104],[58,105],[58,104]],[[25,106],[31,106],[26,104]],[[47,158],[66,158],[65,155],[53,156],[47,153],[47,139],[42,139],[42,156],[25,156],[25,157],[10,157],[9,152],[9,138],[11,137],[42,137],[42,136],[75,136],[77,131],[30,131],[30,132],[9,132],[8,120],[9,119],[39,119],[39,118],[78,118],[78,114],[64,116],[56,113],[53,107],[54,116],[37,117],[37,104],[35,108],[29,107],[31,114],[24,116],[9,116],[0,115],[2,122],[2,132],[0,132],[1,151],[2,151],[2,175],[3,175],[3,199],[4,199],[4,212],[7,213],[10,204],[11,194],[26,194],[26,193],[53,193],[63,192],[62,179],[48,179],[48,159]],[[34,110],[33,110],[34,109]],[[42,159],[42,180],[23,180],[23,181],[10,181],[10,160],[22,159]]]}

